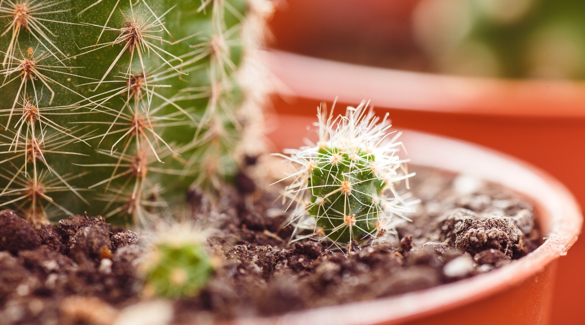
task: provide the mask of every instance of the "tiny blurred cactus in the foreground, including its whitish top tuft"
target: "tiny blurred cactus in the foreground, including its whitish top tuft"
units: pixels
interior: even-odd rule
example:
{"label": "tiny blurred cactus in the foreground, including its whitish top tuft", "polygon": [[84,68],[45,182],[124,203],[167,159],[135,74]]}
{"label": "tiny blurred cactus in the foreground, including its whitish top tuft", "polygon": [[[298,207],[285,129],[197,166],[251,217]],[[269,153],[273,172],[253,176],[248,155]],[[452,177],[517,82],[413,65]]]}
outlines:
{"label": "tiny blurred cactus in the foreground, including its whitish top tuft", "polygon": [[202,238],[190,224],[157,231],[150,254],[141,265],[144,295],[168,298],[197,295],[214,270]]}

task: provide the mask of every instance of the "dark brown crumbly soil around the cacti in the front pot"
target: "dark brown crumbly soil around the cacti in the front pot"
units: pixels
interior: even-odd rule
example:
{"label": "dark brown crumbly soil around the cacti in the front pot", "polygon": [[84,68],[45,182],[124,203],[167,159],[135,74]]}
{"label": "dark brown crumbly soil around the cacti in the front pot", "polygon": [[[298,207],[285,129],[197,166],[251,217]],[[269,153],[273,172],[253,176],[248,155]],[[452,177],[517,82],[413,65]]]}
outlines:
{"label": "dark brown crumbly soil around the cacti in the front pot", "polygon": [[[349,254],[311,240],[288,244],[287,212],[273,196],[250,193],[250,179],[240,177],[242,188],[223,196],[220,208],[200,191],[188,193],[192,217],[222,230],[208,238],[222,263],[198,296],[173,303],[174,321],[266,316],[431,288],[488,272],[541,244],[532,204],[517,194],[412,169],[418,175],[410,191],[421,199],[413,222],[386,243],[354,243]],[[136,233],[99,216],[35,231],[3,210],[0,324],[111,324],[145,299],[137,276],[145,256]]]}

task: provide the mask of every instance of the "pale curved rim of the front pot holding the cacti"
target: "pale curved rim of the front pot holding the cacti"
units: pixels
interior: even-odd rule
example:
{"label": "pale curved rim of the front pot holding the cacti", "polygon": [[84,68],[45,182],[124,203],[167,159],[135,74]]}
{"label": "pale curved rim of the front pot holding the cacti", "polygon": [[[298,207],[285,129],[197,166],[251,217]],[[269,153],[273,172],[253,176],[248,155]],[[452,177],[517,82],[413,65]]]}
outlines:
{"label": "pale curved rim of the front pot holding the cacti", "polygon": [[[308,119],[307,119],[308,120]],[[566,255],[579,236],[583,217],[567,188],[546,172],[517,158],[448,137],[404,130],[407,157],[418,165],[460,172],[496,182],[536,204],[548,239],[535,251],[501,268],[434,288],[389,298],[291,312],[282,316],[236,319],[236,324],[384,324],[418,319],[486,298],[538,274]]]}

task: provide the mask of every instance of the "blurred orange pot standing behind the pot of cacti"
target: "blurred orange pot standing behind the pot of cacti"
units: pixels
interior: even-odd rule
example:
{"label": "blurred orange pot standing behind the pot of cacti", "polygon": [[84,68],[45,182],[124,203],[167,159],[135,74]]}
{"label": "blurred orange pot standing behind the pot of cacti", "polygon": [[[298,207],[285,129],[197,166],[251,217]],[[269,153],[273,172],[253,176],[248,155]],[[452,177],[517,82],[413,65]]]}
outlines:
{"label": "blurred orange pot standing behind the pot of cacti", "polygon": [[[277,35],[278,36],[278,35]],[[315,116],[321,101],[371,99],[393,125],[473,141],[550,172],[585,205],[585,82],[455,77],[339,63],[272,51],[283,84],[278,114]],[[583,324],[585,242],[559,261],[553,319]]]}

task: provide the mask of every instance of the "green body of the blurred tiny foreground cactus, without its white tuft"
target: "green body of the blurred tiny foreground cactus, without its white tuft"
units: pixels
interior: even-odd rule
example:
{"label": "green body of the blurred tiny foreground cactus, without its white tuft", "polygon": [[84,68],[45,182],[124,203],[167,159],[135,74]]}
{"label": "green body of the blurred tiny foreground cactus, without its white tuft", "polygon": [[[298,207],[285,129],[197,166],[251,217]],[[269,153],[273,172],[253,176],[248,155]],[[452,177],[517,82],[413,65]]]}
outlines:
{"label": "green body of the blurred tiny foreground cactus, without its white tuft", "polygon": [[192,297],[213,272],[211,260],[199,243],[157,244],[147,262],[144,288],[169,298]]}

